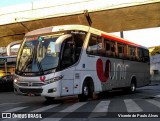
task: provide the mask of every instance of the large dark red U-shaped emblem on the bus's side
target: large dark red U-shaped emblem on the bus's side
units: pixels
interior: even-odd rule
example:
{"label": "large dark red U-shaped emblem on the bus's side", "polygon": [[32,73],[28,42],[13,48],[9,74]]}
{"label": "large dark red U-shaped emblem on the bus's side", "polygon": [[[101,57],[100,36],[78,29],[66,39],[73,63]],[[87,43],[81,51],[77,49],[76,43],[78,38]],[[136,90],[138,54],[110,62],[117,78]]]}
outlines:
{"label": "large dark red U-shaped emblem on the bus's side", "polygon": [[109,79],[111,71],[111,62],[110,60],[106,61],[105,71],[103,71],[103,61],[99,58],[96,63],[96,70],[98,78],[101,82],[106,82]]}

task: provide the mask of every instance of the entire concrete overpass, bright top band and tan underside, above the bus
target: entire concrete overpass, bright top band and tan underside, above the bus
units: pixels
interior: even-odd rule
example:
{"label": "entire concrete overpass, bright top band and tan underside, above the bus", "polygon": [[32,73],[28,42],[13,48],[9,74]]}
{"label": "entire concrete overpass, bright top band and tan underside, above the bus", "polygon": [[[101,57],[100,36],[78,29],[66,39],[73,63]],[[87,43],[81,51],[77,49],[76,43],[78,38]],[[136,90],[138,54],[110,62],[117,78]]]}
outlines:
{"label": "entire concrete overpass, bright top band and tan underside, above the bus", "polygon": [[107,32],[160,27],[160,0],[111,1],[59,0],[0,8],[0,46],[21,40],[28,31],[42,27],[88,25],[84,10],[89,12],[92,27]]}

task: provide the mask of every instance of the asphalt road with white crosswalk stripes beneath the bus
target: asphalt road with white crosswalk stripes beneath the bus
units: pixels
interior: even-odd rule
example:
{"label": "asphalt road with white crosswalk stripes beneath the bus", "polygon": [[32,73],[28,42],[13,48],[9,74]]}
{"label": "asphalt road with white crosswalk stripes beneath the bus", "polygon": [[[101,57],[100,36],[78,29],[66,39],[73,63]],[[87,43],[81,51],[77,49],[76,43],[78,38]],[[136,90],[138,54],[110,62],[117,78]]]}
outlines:
{"label": "asphalt road with white crosswalk stripes beneath the bus", "polygon": [[[49,103],[43,97],[27,97],[15,95],[13,92],[1,91],[1,117],[2,113],[6,112],[11,113],[12,118],[18,116],[15,113],[27,118],[35,116],[32,114],[36,114],[37,117],[42,117],[37,121],[158,121],[160,119],[160,83],[154,82],[149,86],[139,88],[135,94],[113,91],[105,93],[100,99],[95,98],[86,102],[78,102],[77,97],[66,97]],[[17,121],[27,119],[19,117],[16,119],[1,118],[0,120]]]}

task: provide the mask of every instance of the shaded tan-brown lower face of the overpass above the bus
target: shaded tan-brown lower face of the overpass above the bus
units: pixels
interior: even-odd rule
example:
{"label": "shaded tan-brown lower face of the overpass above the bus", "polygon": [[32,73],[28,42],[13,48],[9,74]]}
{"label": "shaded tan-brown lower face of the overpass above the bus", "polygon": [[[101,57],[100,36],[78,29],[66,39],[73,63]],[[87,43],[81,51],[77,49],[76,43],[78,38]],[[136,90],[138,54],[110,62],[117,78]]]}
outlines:
{"label": "shaded tan-brown lower face of the overpass above the bus", "polygon": [[[118,32],[142,28],[160,27],[160,3],[132,6],[89,13],[92,27]],[[0,26],[0,45],[6,46],[11,41],[21,40],[26,32],[42,27],[83,24],[88,25],[84,14],[39,19]]]}

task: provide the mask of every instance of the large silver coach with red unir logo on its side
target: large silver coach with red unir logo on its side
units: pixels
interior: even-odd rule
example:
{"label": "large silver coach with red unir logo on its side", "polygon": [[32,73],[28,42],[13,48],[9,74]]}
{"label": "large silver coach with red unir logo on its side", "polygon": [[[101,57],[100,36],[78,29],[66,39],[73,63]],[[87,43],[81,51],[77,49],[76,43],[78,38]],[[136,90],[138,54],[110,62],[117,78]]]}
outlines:
{"label": "large silver coach with red unir logo on its side", "polygon": [[47,100],[137,87],[150,83],[148,49],[84,25],[62,25],[27,33],[20,47],[14,91]]}

